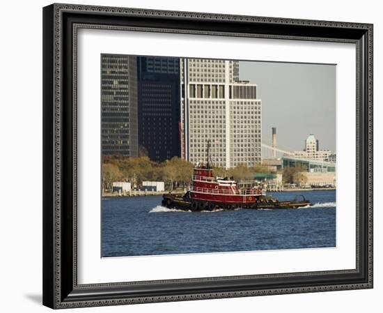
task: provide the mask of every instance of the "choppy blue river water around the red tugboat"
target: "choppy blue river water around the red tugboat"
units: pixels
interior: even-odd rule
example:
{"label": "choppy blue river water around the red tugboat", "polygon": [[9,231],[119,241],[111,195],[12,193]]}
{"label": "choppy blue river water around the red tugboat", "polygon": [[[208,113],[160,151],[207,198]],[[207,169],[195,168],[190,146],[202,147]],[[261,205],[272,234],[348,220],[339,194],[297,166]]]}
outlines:
{"label": "choppy blue river water around the red tugboat", "polygon": [[336,246],[334,190],[270,192],[279,200],[303,194],[314,205],[280,210],[182,212],[162,197],[102,200],[102,256],[286,250]]}

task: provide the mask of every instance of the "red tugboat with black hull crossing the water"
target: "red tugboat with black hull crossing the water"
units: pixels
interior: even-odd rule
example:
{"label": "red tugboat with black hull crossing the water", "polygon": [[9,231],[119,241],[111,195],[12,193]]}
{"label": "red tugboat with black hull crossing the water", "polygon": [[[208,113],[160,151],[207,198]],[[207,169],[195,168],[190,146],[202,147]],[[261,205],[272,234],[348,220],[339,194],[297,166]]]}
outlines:
{"label": "red tugboat with black hull crossing the water", "polygon": [[208,160],[206,165],[196,165],[193,169],[192,187],[185,194],[166,193],[162,196],[162,206],[182,211],[213,211],[215,209],[235,210],[300,208],[311,206],[310,201],[303,195],[296,196],[291,201],[279,201],[267,196],[262,187],[240,190],[233,178],[213,176]]}

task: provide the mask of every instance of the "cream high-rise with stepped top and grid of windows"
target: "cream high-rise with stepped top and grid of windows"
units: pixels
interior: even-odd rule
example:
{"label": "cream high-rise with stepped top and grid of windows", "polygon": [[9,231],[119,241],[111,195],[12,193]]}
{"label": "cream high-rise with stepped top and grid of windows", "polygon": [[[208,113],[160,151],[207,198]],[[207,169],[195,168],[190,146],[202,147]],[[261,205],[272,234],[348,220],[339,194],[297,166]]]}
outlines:
{"label": "cream high-rise with stepped top and grid of windows", "polygon": [[261,101],[257,86],[239,79],[239,61],[181,59],[181,151],[214,165],[253,166],[261,159]]}

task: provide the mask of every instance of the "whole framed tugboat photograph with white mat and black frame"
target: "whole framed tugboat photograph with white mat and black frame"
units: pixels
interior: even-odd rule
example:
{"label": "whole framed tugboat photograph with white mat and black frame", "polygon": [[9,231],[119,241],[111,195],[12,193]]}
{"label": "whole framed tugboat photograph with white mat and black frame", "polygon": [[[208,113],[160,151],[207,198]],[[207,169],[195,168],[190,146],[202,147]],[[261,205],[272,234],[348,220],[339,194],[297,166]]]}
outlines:
{"label": "whole framed tugboat photograph with white mat and black frame", "polygon": [[373,288],[373,25],[43,8],[43,304]]}

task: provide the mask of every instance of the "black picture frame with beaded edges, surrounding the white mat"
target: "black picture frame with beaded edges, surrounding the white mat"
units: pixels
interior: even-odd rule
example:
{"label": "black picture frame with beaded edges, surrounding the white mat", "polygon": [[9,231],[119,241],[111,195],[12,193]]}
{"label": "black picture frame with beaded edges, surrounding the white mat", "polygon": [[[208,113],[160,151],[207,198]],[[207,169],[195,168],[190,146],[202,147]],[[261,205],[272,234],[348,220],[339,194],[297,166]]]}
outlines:
{"label": "black picture frame with beaded edges, surrounding the white mat", "polygon": [[[184,280],[77,283],[77,30],[354,43],[357,267]],[[43,8],[43,304],[55,309],[373,287],[373,25],[52,4]]]}

